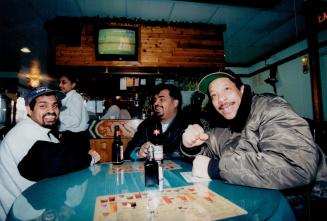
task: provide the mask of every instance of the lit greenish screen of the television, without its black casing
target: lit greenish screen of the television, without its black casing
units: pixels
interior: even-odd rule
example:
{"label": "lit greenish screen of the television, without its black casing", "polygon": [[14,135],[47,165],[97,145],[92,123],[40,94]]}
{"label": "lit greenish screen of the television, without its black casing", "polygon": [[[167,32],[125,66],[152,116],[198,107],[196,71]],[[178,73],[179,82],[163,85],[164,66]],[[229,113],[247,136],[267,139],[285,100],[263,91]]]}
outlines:
{"label": "lit greenish screen of the television, without its black casing", "polygon": [[134,55],[136,33],[123,28],[99,30],[98,53],[112,55]]}

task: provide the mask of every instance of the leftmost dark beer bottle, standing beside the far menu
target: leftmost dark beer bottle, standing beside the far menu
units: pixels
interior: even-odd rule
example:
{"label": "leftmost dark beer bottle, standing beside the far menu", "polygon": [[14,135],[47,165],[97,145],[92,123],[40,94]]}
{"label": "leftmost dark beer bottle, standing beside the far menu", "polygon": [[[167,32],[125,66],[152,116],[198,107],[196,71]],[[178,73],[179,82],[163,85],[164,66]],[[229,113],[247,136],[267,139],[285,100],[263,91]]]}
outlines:
{"label": "leftmost dark beer bottle, standing beside the far menu", "polygon": [[112,163],[115,165],[124,162],[124,146],[121,141],[121,131],[118,125],[115,125],[114,141],[112,142]]}

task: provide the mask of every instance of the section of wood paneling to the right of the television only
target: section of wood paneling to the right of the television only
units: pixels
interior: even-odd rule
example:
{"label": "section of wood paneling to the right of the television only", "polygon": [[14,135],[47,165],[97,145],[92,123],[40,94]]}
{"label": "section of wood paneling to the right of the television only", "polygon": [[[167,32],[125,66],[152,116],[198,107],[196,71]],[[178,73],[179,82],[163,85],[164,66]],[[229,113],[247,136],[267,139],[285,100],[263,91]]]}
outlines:
{"label": "section of wood paneling to the right of the television only", "polygon": [[142,66],[221,67],[222,33],[172,27],[141,27]]}

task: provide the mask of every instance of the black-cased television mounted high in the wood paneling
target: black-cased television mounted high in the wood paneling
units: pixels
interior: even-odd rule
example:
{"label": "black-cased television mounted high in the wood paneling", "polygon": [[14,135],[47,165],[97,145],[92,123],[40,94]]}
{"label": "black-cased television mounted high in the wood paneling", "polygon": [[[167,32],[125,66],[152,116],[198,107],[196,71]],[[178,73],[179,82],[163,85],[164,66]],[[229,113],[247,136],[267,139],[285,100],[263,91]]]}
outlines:
{"label": "black-cased television mounted high in the wood paneling", "polygon": [[97,28],[95,50],[97,60],[137,61],[138,28],[129,26]]}

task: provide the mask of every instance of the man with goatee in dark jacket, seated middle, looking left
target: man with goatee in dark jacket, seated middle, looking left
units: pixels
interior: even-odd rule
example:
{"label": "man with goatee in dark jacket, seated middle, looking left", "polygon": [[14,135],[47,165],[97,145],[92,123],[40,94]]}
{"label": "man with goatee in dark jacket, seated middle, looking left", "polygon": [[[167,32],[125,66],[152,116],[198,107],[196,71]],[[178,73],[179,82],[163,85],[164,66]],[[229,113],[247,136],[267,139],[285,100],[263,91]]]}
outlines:
{"label": "man with goatee in dark jacket, seated middle, looking left", "polygon": [[186,125],[181,116],[182,95],[174,85],[160,84],[153,91],[154,116],[145,119],[138,127],[125,151],[125,158],[142,160],[153,140],[156,124],[161,126],[164,158],[178,156],[180,136]]}

